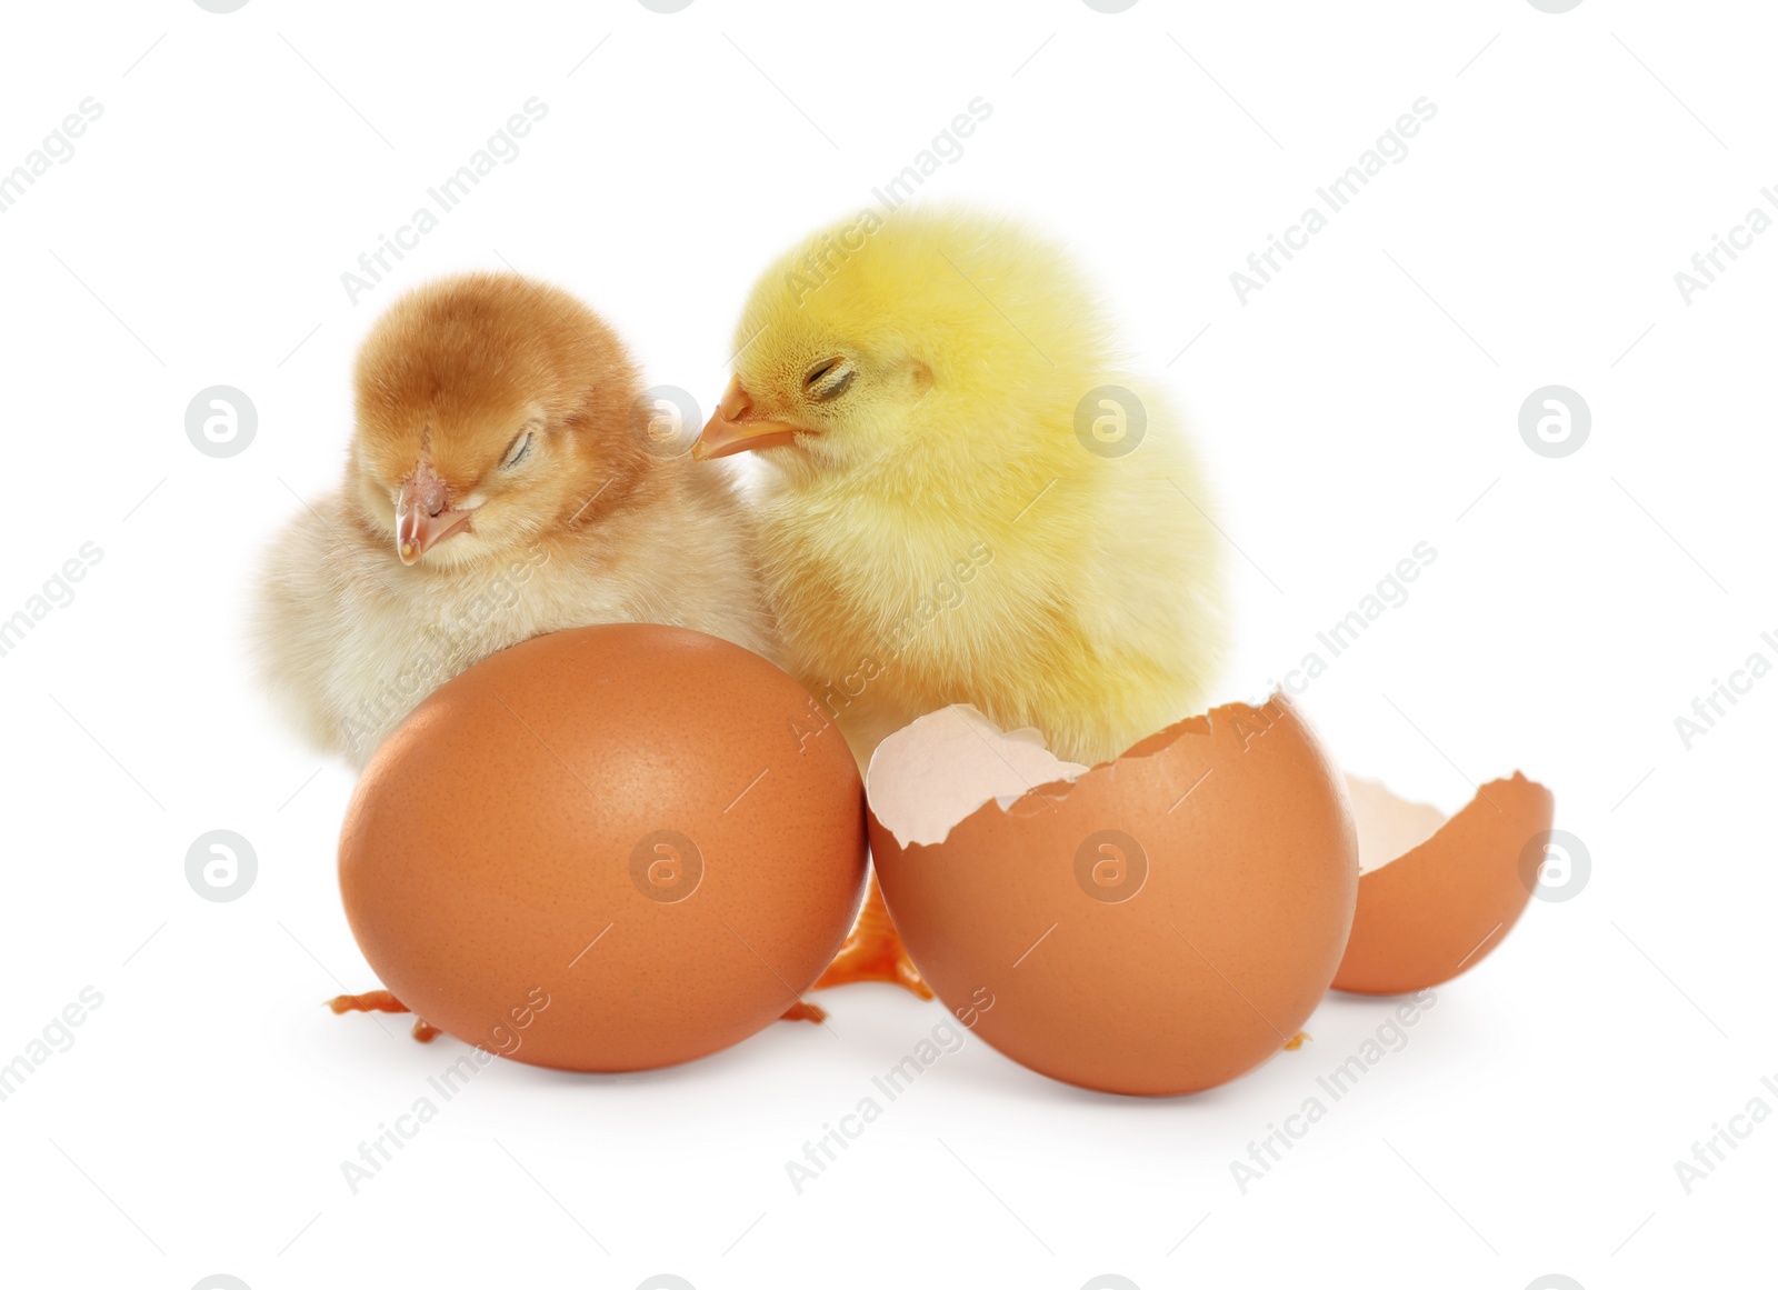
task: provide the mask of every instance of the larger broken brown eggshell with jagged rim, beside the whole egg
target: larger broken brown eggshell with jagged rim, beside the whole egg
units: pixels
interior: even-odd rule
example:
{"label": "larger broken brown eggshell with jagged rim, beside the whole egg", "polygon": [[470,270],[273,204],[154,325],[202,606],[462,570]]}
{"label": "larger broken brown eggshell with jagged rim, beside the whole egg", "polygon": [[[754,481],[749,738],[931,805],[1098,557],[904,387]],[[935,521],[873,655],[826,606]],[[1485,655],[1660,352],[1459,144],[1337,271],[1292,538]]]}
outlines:
{"label": "larger broken brown eggshell with jagged rim, beside the whole egg", "polygon": [[[951,707],[871,760],[884,897],[939,997],[1008,1057],[1108,1093],[1207,1089],[1285,1047],[1358,887],[1339,773],[1291,704],[1218,707],[1093,769],[1033,745]],[[971,814],[935,819],[933,785]]]}

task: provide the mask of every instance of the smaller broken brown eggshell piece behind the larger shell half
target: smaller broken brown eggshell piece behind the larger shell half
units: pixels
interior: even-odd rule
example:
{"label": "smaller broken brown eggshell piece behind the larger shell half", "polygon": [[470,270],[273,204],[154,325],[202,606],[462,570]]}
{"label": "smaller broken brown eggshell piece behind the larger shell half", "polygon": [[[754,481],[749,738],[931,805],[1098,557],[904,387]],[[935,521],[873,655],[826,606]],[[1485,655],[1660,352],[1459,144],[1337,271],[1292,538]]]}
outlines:
{"label": "smaller broken brown eggshell piece behind the larger shell half", "polygon": [[1335,990],[1399,995],[1467,972],[1518,922],[1556,798],[1524,775],[1483,785],[1449,821],[1348,776],[1358,826],[1358,913]]}

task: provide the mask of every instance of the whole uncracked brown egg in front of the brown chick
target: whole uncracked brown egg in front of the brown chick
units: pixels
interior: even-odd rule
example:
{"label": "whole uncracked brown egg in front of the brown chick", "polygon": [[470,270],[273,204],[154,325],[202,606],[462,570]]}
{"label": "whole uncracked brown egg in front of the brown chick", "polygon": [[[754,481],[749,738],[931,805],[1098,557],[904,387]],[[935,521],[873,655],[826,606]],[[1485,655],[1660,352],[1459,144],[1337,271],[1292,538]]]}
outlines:
{"label": "whole uncracked brown egg in front of the brown chick", "polygon": [[864,890],[862,787],[756,654],[581,627],[402,723],[352,798],[340,887],[432,1025],[539,1066],[667,1066],[768,1025],[832,960]]}

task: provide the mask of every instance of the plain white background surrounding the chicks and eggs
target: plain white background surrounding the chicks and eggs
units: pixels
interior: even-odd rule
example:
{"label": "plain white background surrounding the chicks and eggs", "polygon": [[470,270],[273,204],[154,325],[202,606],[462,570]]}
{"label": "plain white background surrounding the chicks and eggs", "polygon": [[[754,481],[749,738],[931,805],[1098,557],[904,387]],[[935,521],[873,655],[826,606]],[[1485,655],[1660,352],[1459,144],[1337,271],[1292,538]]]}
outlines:
{"label": "plain white background surrounding the chicks and eggs", "polygon": [[[0,1279],[1769,1276],[1778,1123],[1691,1194],[1673,1167],[1751,1098],[1778,1111],[1778,679],[1689,750],[1675,730],[1751,652],[1778,661],[1778,235],[1691,304],[1673,283],[1778,185],[1762,5],[160,0],[5,21],[0,169],[80,100],[103,117],[0,215],[0,615],[84,542],[103,560],[0,659],[0,1063],[84,986],[103,1006],[0,1103]],[[532,96],[549,114],[523,155],[348,302],[340,274]],[[318,1006],[372,984],[332,871],[350,775],[272,720],[244,606],[293,494],[338,478],[357,341],[398,290],[510,263],[709,407],[766,258],[976,96],[992,117],[926,192],[1070,240],[1189,410],[1243,553],[1230,693],[1433,544],[1300,702],[1348,766],[1446,808],[1524,768],[1590,883],[1534,903],[1245,1194],[1230,1160],[1387,1004],[1332,997],[1301,1052],[1170,1102],[971,1041],[798,1196],[784,1162],[942,1018],[853,988],[823,1000],[830,1029],[681,1070],[500,1063],[354,1196],[340,1162],[455,1041]],[[1421,96],[1438,114],[1406,160],[1243,306],[1229,274]],[[1593,416],[1561,460],[1517,425],[1552,382]],[[185,437],[212,384],[260,414],[228,460]],[[213,828],[260,858],[229,904],[183,874]]]}

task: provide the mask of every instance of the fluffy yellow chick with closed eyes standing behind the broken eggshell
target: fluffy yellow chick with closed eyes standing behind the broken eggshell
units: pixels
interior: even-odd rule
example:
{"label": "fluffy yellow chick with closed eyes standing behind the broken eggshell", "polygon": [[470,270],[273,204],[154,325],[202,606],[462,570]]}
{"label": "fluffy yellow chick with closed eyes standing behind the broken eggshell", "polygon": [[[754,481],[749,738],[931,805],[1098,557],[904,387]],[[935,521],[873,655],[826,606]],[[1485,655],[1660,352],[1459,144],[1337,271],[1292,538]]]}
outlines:
{"label": "fluffy yellow chick with closed eyes standing behind the broken eggshell", "polygon": [[[765,272],[734,345],[693,455],[770,466],[766,590],[861,764],[957,702],[1086,764],[1202,709],[1225,636],[1207,489],[1063,249],[955,208],[850,220]],[[871,944],[827,984],[910,984],[885,928],[873,888]]]}

